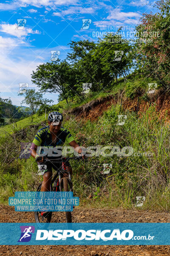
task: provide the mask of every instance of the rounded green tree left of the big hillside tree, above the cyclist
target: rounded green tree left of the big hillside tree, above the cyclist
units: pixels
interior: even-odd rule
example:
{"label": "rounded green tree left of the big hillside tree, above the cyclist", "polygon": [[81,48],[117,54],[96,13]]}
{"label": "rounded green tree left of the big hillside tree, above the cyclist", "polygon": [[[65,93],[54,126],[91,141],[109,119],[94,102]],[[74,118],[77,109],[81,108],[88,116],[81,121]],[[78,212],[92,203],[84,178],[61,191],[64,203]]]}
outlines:
{"label": "rounded green tree left of the big hillside tree, above the cyclist", "polygon": [[37,84],[41,92],[59,93],[68,103],[80,86],[82,75],[79,70],[66,60],[42,64],[31,75],[32,82]]}

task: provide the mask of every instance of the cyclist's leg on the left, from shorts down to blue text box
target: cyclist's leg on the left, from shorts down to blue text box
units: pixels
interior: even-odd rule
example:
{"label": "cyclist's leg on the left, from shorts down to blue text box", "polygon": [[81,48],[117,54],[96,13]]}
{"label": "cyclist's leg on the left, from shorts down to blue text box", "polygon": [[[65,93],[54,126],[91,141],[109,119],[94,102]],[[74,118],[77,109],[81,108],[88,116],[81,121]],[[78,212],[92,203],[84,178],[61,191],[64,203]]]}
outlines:
{"label": "cyclist's leg on the left, from shorts down to blue text box", "polygon": [[43,175],[41,192],[50,191],[52,168],[51,164],[38,163],[39,175]]}

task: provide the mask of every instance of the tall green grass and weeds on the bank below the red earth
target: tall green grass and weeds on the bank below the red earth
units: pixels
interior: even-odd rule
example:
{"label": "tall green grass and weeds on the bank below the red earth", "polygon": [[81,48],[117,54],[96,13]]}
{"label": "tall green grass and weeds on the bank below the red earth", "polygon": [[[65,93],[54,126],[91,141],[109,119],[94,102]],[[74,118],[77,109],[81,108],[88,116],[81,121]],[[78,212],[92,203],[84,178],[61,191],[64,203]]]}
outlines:
{"label": "tall green grass and weeds on the bank below the red earth", "polygon": [[[96,208],[170,210],[170,140],[169,126],[160,121],[155,107],[137,118],[127,115],[124,125],[117,125],[120,106],[112,106],[96,122],[79,122],[74,116],[64,122],[80,145],[133,147],[129,157],[93,156],[85,163],[71,161],[74,195],[79,196],[80,206]],[[106,151],[107,152],[107,151]],[[137,154],[136,154],[137,153]],[[148,155],[151,153],[151,155]],[[111,163],[109,175],[102,175],[103,163]],[[13,166],[13,169],[12,169]],[[31,157],[16,160],[1,169],[0,202],[7,204],[14,191],[35,190],[40,177]],[[15,168],[15,173],[14,170]],[[136,207],[136,196],[144,196],[142,207]]]}

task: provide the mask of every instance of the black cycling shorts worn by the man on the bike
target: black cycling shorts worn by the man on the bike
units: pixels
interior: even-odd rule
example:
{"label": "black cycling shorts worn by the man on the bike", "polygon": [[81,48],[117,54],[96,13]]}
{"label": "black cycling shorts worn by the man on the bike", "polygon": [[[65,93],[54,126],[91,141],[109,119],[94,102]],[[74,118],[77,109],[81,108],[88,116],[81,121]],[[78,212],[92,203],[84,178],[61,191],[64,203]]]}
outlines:
{"label": "black cycling shorts worn by the man on the bike", "polygon": [[51,172],[52,168],[58,172],[61,168],[65,170],[66,166],[71,166],[68,161],[63,163],[40,163],[38,162],[38,175],[44,175],[46,172]]}

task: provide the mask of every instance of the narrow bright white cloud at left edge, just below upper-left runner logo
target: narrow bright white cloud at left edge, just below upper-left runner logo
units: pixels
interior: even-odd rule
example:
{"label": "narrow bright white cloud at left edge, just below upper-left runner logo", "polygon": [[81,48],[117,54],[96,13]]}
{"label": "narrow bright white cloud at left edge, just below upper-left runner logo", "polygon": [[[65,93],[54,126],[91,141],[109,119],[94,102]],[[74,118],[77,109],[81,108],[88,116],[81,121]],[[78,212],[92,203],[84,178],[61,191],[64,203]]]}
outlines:
{"label": "narrow bright white cloud at left edge, just below upper-left runner logo", "polygon": [[39,30],[32,30],[31,28],[24,27],[23,29],[17,29],[17,24],[0,24],[0,31],[9,35],[14,35],[17,38],[21,38],[28,34],[41,34]]}

